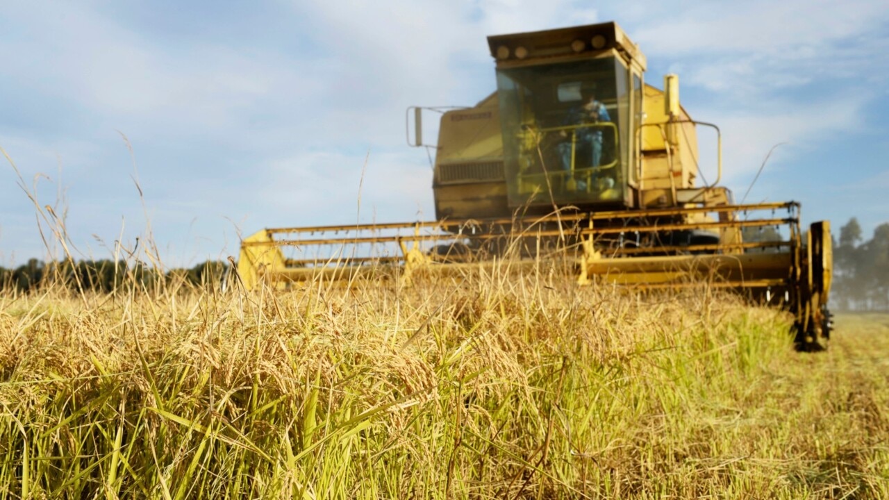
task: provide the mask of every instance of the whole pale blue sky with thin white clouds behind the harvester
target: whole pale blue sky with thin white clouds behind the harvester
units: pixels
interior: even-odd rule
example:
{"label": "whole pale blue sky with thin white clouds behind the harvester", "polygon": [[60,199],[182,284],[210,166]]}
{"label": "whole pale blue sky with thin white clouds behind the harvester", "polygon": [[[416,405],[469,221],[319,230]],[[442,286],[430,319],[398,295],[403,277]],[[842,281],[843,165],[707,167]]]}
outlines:
{"label": "whole pale blue sky with thin white clouds behind the harvester", "polygon": [[268,227],[431,220],[430,151],[408,147],[405,110],[492,93],[486,36],[611,20],[647,83],[677,73],[684,108],[720,126],[738,201],[800,201],[837,235],[889,222],[885,0],[0,5],[7,268],[60,255],[36,206],[78,260],[140,238],[176,267]]}

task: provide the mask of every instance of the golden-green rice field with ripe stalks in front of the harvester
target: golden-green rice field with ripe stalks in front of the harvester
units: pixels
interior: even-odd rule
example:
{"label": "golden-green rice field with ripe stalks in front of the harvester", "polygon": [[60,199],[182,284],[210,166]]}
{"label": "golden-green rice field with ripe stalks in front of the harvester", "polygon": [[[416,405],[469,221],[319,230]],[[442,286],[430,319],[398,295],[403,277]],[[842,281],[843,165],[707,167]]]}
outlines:
{"label": "golden-green rice field with ripe stalks in front of the harvester", "polygon": [[889,498],[889,316],[507,273],[0,294],[0,499]]}

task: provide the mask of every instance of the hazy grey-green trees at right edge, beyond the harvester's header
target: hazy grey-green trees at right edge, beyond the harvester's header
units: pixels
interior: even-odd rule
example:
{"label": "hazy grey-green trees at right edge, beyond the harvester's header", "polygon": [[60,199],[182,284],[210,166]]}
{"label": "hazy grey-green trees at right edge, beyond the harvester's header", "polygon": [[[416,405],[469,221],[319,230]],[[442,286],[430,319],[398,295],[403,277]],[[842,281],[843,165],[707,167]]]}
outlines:
{"label": "hazy grey-green trees at right edge, beyond the harvester's header", "polygon": [[830,302],[837,310],[889,310],[889,222],[868,240],[854,217],[839,230]]}

